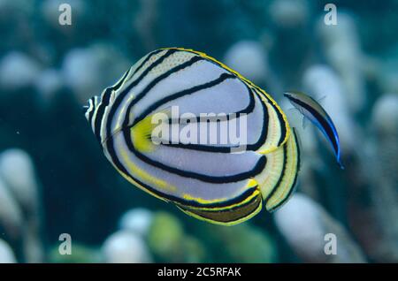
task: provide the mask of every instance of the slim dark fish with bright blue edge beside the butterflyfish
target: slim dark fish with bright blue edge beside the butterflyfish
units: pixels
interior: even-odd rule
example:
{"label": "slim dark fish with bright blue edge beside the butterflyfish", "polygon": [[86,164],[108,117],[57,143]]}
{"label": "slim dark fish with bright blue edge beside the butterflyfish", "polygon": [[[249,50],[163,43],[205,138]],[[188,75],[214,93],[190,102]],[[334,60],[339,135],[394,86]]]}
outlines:
{"label": "slim dark fish with bright blue edge beside the butterflyfish", "polygon": [[344,165],[341,162],[339,134],[332,118],[330,118],[324,108],[312,97],[300,92],[287,92],[284,95],[302,113],[304,118],[308,118],[325,135],[325,138],[333,148],[337,163],[339,163],[341,169],[344,169]]}

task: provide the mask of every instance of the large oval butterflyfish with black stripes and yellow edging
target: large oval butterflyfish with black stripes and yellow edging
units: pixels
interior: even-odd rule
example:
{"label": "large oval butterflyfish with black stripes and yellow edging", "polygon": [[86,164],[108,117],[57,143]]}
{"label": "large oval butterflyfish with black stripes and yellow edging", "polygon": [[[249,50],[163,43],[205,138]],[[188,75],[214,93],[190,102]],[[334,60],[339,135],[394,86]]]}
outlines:
{"label": "large oval butterflyfish with black stripes and yellow edging", "polygon": [[[172,107],[195,116],[226,112],[228,124],[245,115],[246,149],[233,153],[232,142],[183,143],[167,135],[155,144],[153,118],[169,116]],[[300,151],[284,112],[263,89],[204,53],[152,51],[101,97],[92,97],[85,116],[124,178],[189,216],[239,224],[263,201],[272,211],[293,193]]]}

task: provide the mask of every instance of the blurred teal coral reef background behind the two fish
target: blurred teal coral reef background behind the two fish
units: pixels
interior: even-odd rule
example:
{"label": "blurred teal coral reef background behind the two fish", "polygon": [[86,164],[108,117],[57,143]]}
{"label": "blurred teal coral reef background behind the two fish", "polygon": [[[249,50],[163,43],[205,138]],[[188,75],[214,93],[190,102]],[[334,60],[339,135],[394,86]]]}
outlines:
{"label": "blurred teal coral reef background behind the two fish", "polygon": [[[335,0],[331,26],[327,3],[0,0],[0,262],[398,262],[398,1]],[[286,206],[207,224],[107,162],[81,106],[161,47],[206,52],[282,104],[302,140]],[[345,171],[289,89],[325,96]]]}

